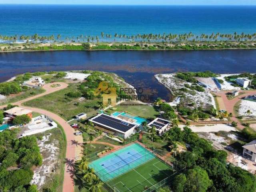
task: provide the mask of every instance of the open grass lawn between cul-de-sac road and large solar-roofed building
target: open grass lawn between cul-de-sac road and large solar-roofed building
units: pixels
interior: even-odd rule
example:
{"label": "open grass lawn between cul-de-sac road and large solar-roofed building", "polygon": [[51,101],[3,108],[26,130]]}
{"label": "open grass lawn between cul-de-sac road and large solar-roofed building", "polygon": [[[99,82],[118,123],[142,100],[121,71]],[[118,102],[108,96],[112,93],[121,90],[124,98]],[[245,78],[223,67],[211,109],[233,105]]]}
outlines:
{"label": "open grass lawn between cul-de-sac road and large solar-roofed building", "polygon": [[95,98],[94,100],[79,102],[79,98],[69,98],[66,96],[68,92],[77,91],[77,86],[78,84],[70,84],[70,86],[63,90],[30,100],[25,102],[24,105],[46,109],[60,115],[65,120],[70,120],[82,112],[85,112],[88,117],[96,115],[96,106],[101,101],[100,99]]}

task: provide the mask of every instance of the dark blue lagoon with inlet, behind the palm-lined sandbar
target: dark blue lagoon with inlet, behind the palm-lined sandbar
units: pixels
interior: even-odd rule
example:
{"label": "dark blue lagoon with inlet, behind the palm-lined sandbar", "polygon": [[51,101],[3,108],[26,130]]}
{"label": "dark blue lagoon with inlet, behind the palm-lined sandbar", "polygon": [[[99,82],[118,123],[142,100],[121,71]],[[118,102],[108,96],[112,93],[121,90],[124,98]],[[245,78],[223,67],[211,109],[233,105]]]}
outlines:
{"label": "dark blue lagoon with inlet, behind the palm-lined sandbar", "polygon": [[47,51],[0,53],[0,81],[24,72],[101,70],[115,72],[134,87],[170,99],[154,74],[177,71],[256,73],[256,50]]}

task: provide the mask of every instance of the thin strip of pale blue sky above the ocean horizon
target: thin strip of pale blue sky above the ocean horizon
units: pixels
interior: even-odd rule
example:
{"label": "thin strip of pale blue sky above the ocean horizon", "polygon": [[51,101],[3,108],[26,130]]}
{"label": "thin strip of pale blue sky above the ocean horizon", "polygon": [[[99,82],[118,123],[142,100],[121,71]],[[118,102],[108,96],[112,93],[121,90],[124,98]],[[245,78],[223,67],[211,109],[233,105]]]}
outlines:
{"label": "thin strip of pale blue sky above the ocean horizon", "polygon": [[0,0],[0,4],[256,5],[256,0]]}

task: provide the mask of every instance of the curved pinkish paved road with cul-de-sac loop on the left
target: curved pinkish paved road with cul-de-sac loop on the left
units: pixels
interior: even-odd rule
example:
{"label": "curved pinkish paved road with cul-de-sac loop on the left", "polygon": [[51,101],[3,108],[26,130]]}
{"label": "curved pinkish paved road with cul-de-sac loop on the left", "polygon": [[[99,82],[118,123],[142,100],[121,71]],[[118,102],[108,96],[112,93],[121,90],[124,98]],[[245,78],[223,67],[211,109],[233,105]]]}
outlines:
{"label": "curved pinkish paved road with cul-de-sac loop on the left", "polygon": [[[53,84],[60,84],[59,87],[53,88],[51,87]],[[43,86],[43,88],[46,90],[42,94],[38,94],[36,96],[32,96],[30,98],[26,98],[24,100],[20,100],[18,102],[12,103],[13,105],[21,106],[22,103],[56,92],[58,90],[62,90],[66,88],[68,84],[64,82],[56,82],[56,83],[50,83]],[[0,108],[4,108],[6,105],[0,106]],[[62,128],[64,129],[64,132],[66,134],[66,140],[67,140],[67,146],[66,146],[66,164],[65,164],[65,172],[64,172],[64,182],[63,182],[63,192],[74,192],[74,182],[73,182],[73,166],[72,164],[75,161],[76,157],[76,150],[81,152],[82,147],[80,146],[80,143],[82,142],[82,136],[75,136],[74,135],[74,129],[60,116],[57,114],[54,114],[52,112],[49,112],[47,110],[39,109],[39,108],[32,108],[27,106],[22,106],[22,108],[32,110],[34,112],[38,112],[41,114],[45,114],[58,122]]]}

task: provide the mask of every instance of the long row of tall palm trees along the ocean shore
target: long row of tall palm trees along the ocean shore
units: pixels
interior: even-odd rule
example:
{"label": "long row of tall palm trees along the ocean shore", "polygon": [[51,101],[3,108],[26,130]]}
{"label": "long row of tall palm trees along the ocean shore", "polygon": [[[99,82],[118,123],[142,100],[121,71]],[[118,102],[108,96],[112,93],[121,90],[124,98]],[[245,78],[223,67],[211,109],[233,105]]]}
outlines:
{"label": "long row of tall palm trees along the ocean shore", "polygon": [[34,34],[32,36],[25,36],[25,35],[15,35],[15,36],[2,36],[0,35],[0,39],[8,40],[8,41],[17,41],[17,40],[32,40],[32,41],[45,41],[45,40],[66,40],[70,42],[99,42],[100,40],[106,39],[106,41],[142,41],[142,42],[184,42],[184,41],[223,41],[223,40],[230,40],[230,41],[242,41],[242,40],[256,40],[256,33],[253,34],[245,34],[242,32],[238,34],[234,32],[234,34],[221,34],[219,32],[212,33],[212,34],[201,34],[195,35],[190,33],[184,34],[137,34],[137,35],[126,35],[126,34],[104,34],[101,32],[101,39],[99,36],[91,36],[91,35],[80,35],[80,36],[72,36],[61,38],[61,35],[58,34],[57,38],[54,35],[50,36],[39,36],[38,34]]}

